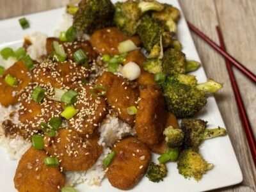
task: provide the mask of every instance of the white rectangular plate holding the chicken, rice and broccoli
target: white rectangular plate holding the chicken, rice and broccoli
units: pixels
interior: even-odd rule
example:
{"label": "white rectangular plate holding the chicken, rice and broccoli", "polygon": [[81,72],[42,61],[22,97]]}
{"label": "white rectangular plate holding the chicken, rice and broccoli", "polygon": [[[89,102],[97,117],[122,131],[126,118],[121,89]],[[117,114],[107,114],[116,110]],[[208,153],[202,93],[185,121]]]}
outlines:
{"label": "white rectangular plate holding the chicken, rice and broccoli", "polygon": [[[115,1],[113,1],[115,2]],[[180,9],[177,0],[162,0],[161,2],[170,3]],[[181,10],[181,9],[180,9]],[[36,13],[33,15],[26,15],[31,27],[26,30],[20,28],[18,19],[8,19],[0,21],[0,49],[3,47],[19,47],[22,44],[22,38],[34,31],[40,31],[48,36],[52,36],[56,26],[61,22],[61,15],[64,9],[51,10],[48,12]],[[183,52],[189,60],[200,61],[195,45],[189,33],[184,15],[178,25],[179,40],[183,45]],[[204,68],[200,68],[195,73],[198,82],[206,81]],[[224,87],[225,88],[225,87]],[[202,118],[209,122],[208,126],[225,127],[220,115],[220,111],[213,96],[209,97],[207,106],[196,117]],[[168,177],[163,182],[154,183],[148,181],[146,177],[140,183],[131,189],[134,192],[156,192],[156,191],[207,191],[216,188],[223,188],[242,182],[243,175],[239,168],[234,149],[230,143],[228,136],[207,140],[200,148],[200,152],[209,163],[214,164],[214,169],[207,172],[200,182],[193,179],[184,179],[179,175],[176,163],[168,163]],[[156,161],[157,156],[153,157]],[[13,184],[13,176],[17,167],[18,161],[10,161],[6,150],[0,147],[0,191],[16,191]],[[113,188],[107,179],[104,179],[100,187],[91,187],[86,184],[77,186],[79,191],[121,191]]]}

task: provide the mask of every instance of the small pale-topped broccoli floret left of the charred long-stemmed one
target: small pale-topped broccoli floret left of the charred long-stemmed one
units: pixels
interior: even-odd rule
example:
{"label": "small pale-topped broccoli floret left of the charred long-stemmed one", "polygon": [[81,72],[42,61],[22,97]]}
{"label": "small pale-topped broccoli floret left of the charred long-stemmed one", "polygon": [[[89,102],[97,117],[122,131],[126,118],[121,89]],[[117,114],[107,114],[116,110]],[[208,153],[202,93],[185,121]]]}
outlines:
{"label": "small pale-topped broccoli floret left of the charred long-stemmed one", "polygon": [[172,126],[164,129],[166,145],[169,148],[180,147],[183,143],[184,132],[181,129],[173,129]]}

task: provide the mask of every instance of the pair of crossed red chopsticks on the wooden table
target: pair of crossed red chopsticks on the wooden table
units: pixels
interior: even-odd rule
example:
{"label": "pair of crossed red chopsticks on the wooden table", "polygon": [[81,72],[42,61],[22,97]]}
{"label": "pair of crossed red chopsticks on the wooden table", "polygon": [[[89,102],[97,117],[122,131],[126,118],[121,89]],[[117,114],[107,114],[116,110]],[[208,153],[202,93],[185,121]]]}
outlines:
{"label": "pair of crossed red chopsticks on the wooden table", "polygon": [[239,92],[239,88],[236,83],[236,77],[234,76],[234,72],[232,70],[232,65],[237,67],[243,74],[245,74],[249,79],[251,79],[254,83],[256,83],[256,76],[248,68],[244,67],[241,63],[239,63],[236,59],[234,59],[230,54],[226,52],[225,43],[223,40],[223,36],[221,33],[220,28],[217,26],[216,30],[219,36],[220,44],[221,46],[218,46],[216,43],[214,43],[209,37],[204,35],[199,29],[197,29],[195,26],[193,26],[191,23],[188,22],[189,29],[191,29],[193,32],[196,33],[196,35],[200,36],[205,42],[207,42],[209,45],[211,45],[216,51],[220,52],[222,56],[224,56],[226,61],[226,66],[228,70],[228,75],[230,77],[230,81],[232,84],[232,88],[234,91],[234,95],[236,97],[237,107],[239,109],[241,121],[243,123],[244,131],[246,133],[246,138],[248,140],[248,144],[250,147],[250,151],[253,157],[254,164],[256,166],[256,141],[253,136],[252,127],[250,125],[250,122],[248,120],[248,116],[246,114],[246,110],[244,109],[243,99],[241,97],[241,93]]}

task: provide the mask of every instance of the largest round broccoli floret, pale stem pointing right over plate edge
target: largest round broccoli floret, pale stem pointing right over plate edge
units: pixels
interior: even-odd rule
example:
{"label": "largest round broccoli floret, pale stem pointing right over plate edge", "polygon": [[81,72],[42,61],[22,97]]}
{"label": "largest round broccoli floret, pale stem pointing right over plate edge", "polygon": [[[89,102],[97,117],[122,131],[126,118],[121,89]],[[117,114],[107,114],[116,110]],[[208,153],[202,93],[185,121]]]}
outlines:
{"label": "largest round broccoli floret, pale stem pointing right over plate edge", "polygon": [[222,87],[220,83],[215,81],[216,85],[206,82],[200,84],[200,88],[197,88],[195,83],[195,76],[177,74],[167,77],[166,82],[162,84],[163,95],[168,109],[179,118],[195,115],[207,103],[206,93],[216,92]]}

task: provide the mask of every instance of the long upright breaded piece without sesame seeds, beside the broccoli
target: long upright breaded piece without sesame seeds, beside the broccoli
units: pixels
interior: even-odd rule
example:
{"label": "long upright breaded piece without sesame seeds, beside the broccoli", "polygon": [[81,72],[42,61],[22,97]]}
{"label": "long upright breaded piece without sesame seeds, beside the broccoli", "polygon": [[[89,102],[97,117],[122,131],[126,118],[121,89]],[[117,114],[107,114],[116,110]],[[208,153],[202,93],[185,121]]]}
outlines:
{"label": "long upright breaded piece without sesame seeds, beside the broccoli", "polygon": [[164,98],[157,86],[147,86],[140,90],[135,130],[141,141],[155,145],[163,134],[167,110]]}

